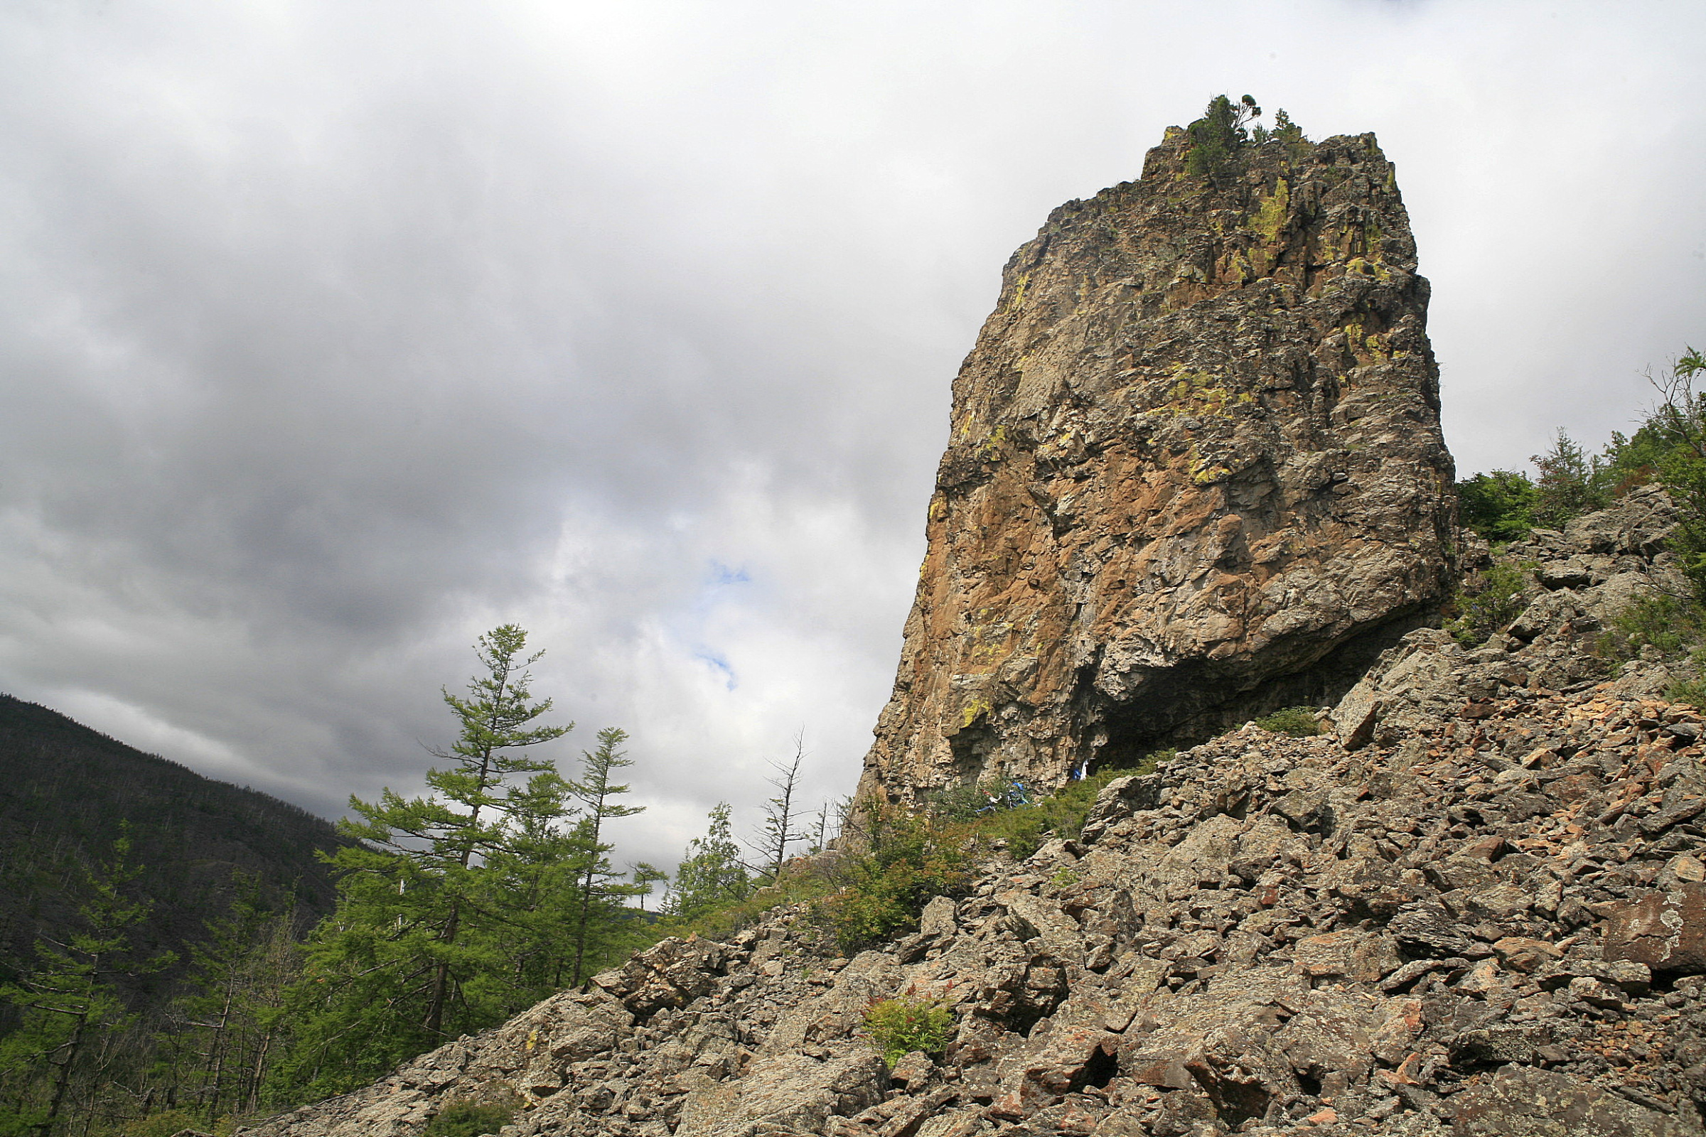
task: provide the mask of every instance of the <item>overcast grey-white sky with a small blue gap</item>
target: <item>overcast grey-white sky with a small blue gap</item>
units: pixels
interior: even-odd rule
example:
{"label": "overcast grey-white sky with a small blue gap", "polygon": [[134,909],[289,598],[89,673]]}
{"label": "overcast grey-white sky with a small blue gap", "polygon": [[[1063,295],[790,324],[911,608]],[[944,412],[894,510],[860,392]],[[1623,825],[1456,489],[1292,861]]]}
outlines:
{"label": "overcast grey-white sky with a small blue gap", "polygon": [[851,789],[1000,268],[1210,95],[1377,131],[1459,470],[1706,348],[1706,5],[0,5],[0,690],[324,815],[469,644],[623,859]]}

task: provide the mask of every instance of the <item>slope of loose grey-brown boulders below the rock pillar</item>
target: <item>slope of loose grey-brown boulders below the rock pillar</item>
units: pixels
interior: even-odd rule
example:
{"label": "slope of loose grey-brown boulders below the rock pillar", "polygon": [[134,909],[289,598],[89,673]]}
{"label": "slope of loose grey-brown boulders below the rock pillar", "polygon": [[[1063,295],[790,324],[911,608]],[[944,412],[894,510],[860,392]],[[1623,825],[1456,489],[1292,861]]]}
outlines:
{"label": "slope of loose grey-brown boulders below the rock pillar", "polygon": [[[783,909],[665,941],[242,1132],[404,1137],[515,1093],[503,1137],[1703,1134],[1703,716],[1600,639],[1675,583],[1663,513],[1539,534],[1510,632],[1411,632],[1332,733],[1112,782],[913,936],[836,958]],[[862,1021],[904,994],[955,1028],[889,1071]]]}

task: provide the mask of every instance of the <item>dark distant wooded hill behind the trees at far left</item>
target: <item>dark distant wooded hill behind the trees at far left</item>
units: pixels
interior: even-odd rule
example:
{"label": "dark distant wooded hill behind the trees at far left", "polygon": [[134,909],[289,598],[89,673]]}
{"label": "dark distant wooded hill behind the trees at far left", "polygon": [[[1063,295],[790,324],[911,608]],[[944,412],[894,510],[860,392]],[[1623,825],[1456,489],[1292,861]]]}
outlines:
{"label": "dark distant wooded hill behind the trees at far left", "polygon": [[206,921],[225,915],[234,869],[295,905],[299,929],[333,909],[333,876],[314,854],[343,839],[326,820],[0,695],[0,975],[32,956],[38,931],[75,922],[77,863],[107,859],[126,822],[131,861],[145,866],[135,892],[154,902],[148,949],[183,961]]}

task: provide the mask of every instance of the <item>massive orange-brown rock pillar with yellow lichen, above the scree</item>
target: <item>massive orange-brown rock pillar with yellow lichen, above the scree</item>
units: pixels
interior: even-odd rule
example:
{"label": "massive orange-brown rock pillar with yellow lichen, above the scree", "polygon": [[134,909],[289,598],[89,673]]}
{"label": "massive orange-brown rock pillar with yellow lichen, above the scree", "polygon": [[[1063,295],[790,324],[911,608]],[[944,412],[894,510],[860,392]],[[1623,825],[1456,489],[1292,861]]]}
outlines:
{"label": "massive orange-brown rock pillar with yellow lichen, above the scree", "polygon": [[[1331,701],[1447,586],[1428,283],[1373,135],[1169,131],[1013,254],[863,793],[1085,762]],[[1240,718],[1242,716],[1242,718]]]}

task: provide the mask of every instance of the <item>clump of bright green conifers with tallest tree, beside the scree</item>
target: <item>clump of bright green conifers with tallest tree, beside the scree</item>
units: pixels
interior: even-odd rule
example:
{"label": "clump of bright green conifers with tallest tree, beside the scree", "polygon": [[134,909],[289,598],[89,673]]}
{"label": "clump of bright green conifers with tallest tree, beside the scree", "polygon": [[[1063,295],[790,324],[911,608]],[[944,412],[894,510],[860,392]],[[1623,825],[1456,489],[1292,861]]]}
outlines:
{"label": "clump of bright green conifers with tallest tree, beside the scree", "polygon": [[597,834],[575,817],[582,786],[527,753],[573,724],[536,724],[551,701],[532,699],[527,668],[543,653],[524,655],[525,643],[514,624],[481,636],[485,673],[466,695],[444,692],[462,730],[435,752],[445,767],[426,774],[426,798],[387,788],[379,801],[350,799],[360,820],[341,827],[360,844],[333,857],[346,869],[338,910],[304,946],[285,1011],[295,1038],[275,1077],[281,1098],[339,1093],[503,1021],[549,994],[594,938],[561,919],[587,912],[573,898],[589,863],[602,861]]}

